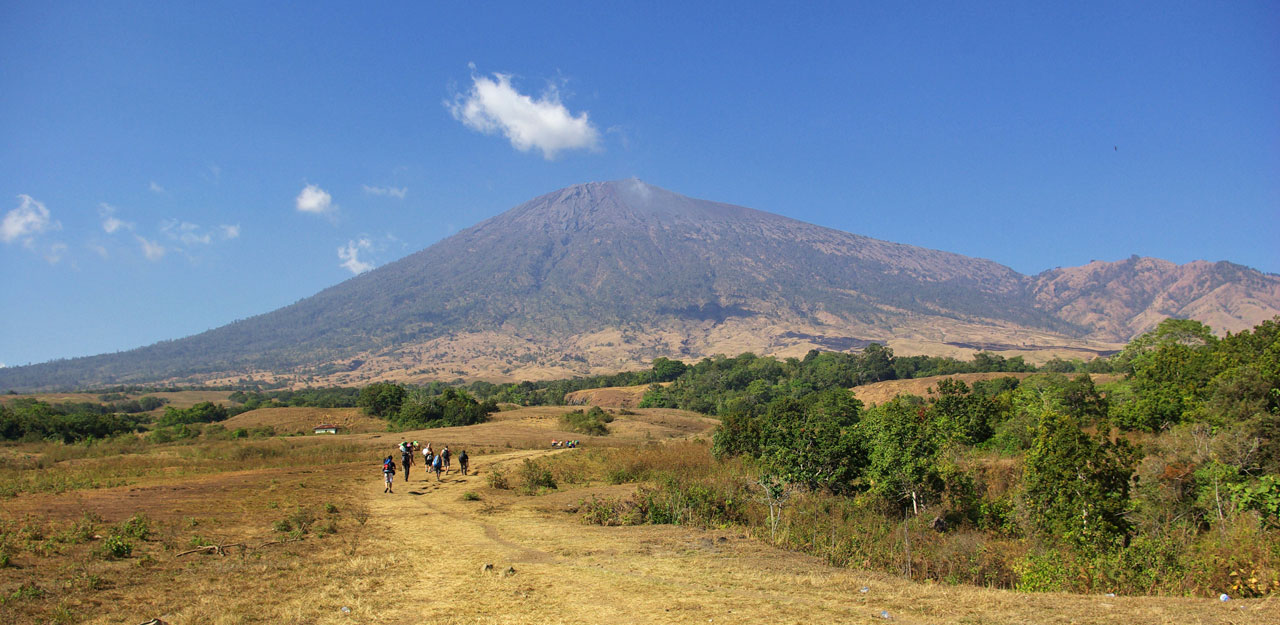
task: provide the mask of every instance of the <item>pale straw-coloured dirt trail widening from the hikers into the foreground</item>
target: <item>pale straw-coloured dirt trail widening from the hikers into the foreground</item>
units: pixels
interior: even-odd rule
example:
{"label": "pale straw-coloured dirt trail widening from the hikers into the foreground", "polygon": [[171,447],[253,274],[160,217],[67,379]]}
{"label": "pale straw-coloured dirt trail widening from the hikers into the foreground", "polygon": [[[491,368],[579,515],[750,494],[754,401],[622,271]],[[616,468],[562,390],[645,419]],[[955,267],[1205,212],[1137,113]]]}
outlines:
{"label": "pale straw-coloured dirt trail widening from the hikers into the foreground", "polygon": [[[495,466],[550,451],[474,460]],[[476,492],[481,501],[465,501]],[[737,532],[602,528],[554,510],[564,497],[485,488],[484,476],[435,482],[416,470],[394,494],[370,491],[384,538],[403,553],[378,605],[351,622],[826,624],[886,622],[1275,622],[1270,602],[1021,594],[916,584],[832,569]],[[550,507],[552,510],[548,510]],[[370,521],[374,523],[374,521]],[[385,542],[385,544],[383,544]],[[486,564],[492,571],[481,571]],[[508,574],[508,569],[513,572]],[[403,583],[401,583],[403,581]],[[865,592],[861,592],[867,588]],[[367,620],[361,619],[367,617]]]}

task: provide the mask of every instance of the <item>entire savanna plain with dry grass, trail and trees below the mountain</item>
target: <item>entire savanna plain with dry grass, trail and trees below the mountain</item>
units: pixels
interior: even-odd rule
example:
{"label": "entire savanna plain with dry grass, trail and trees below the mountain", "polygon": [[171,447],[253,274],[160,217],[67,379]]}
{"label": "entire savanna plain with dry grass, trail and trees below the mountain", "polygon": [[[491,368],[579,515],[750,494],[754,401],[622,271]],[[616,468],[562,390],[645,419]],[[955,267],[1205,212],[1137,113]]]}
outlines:
{"label": "entire savanna plain with dry grass, trail and trees below the mountain", "polygon": [[[1277,328],[10,394],[0,621],[1277,622]],[[402,441],[472,471],[383,493]]]}

